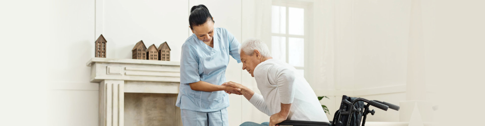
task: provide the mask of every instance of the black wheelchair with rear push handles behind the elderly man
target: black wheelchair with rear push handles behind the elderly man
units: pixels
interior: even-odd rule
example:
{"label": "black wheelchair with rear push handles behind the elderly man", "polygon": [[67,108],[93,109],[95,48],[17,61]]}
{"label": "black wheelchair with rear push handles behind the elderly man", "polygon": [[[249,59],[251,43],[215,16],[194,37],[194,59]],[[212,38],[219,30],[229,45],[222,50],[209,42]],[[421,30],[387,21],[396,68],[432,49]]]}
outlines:
{"label": "black wheelchair with rear push handles behind the elderly man", "polygon": [[[365,104],[367,103],[367,104]],[[342,102],[340,108],[334,114],[334,118],[330,123],[317,122],[317,121],[299,121],[299,120],[286,120],[278,125],[291,125],[291,126],[365,126],[365,120],[367,114],[374,115],[375,110],[370,110],[369,106],[379,108],[381,110],[399,110],[399,106],[390,104],[387,102],[381,102],[378,100],[368,100],[361,97],[349,97],[342,96]],[[363,117],[363,118],[362,118]]]}

